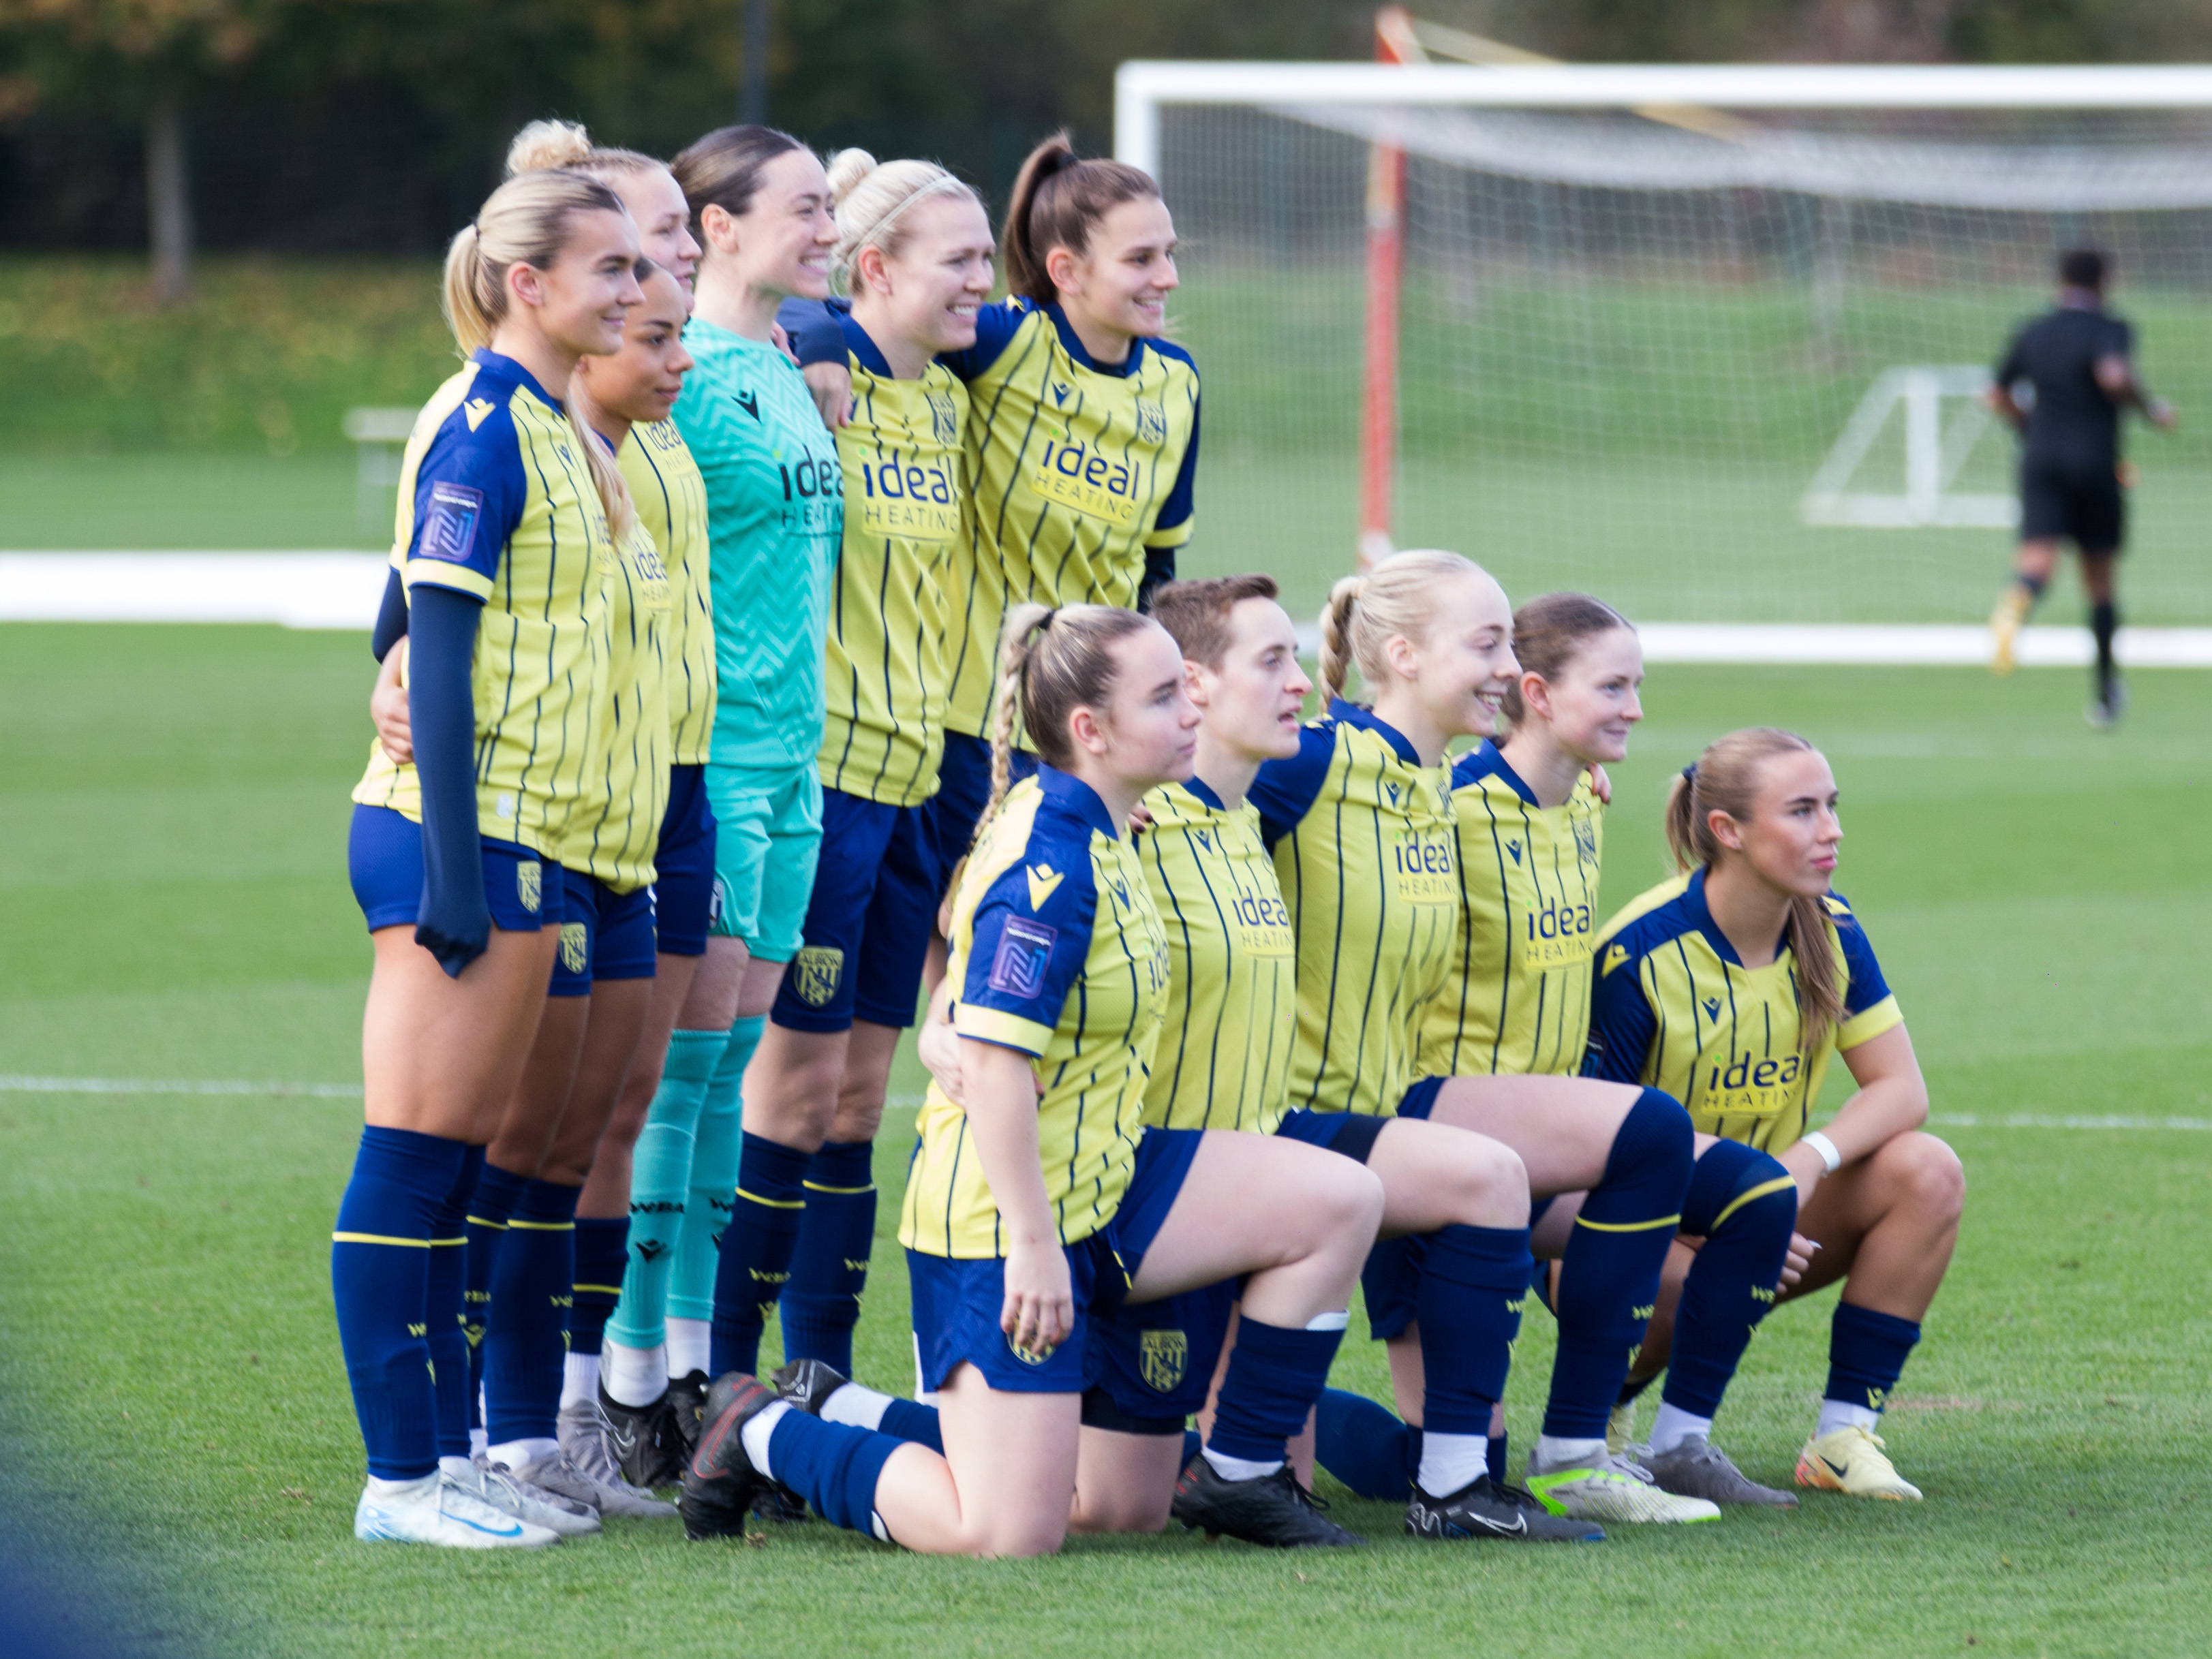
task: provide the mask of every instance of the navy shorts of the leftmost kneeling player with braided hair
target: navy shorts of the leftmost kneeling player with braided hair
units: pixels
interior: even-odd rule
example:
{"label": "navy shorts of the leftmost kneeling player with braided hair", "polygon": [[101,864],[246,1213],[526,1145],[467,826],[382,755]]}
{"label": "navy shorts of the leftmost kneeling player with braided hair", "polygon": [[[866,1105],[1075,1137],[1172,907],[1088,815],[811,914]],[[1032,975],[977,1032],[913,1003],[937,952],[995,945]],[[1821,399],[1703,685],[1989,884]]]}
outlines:
{"label": "navy shorts of the leftmost kneeling player with braided hair", "polygon": [[[1006,1394],[1082,1394],[1095,1380],[1093,1323],[1119,1318],[1144,1252],[1152,1248],[1175,1208],[1175,1194],[1183,1190],[1190,1159],[1199,1155],[1199,1137],[1201,1130],[1194,1128],[1148,1128],[1137,1141],[1137,1166],[1113,1221],[1082,1243],[1066,1245],[1075,1329],[1051,1354],[1020,1354],[998,1327],[1006,1307],[1002,1256],[929,1256],[909,1250],[907,1279],[914,1287],[914,1347],[922,1387],[942,1389],[953,1371],[973,1365],[987,1387]],[[1210,1378],[1212,1367],[1206,1371],[1206,1380]]]}

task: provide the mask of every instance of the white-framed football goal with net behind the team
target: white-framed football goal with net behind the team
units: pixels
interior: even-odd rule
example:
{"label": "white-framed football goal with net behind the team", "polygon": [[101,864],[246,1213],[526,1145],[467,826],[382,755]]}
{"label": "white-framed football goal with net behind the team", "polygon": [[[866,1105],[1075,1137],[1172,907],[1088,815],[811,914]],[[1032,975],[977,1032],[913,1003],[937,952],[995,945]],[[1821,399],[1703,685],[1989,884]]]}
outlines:
{"label": "white-framed football goal with net behind the team", "polygon": [[[1301,602],[1365,531],[1646,619],[1978,619],[2057,252],[2152,389],[2212,367],[2208,71],[1126,64],[1117,148],[1183,241],[1194,562]],[[2212,447],[2128,453],[2130,615],[2212,619]]]}

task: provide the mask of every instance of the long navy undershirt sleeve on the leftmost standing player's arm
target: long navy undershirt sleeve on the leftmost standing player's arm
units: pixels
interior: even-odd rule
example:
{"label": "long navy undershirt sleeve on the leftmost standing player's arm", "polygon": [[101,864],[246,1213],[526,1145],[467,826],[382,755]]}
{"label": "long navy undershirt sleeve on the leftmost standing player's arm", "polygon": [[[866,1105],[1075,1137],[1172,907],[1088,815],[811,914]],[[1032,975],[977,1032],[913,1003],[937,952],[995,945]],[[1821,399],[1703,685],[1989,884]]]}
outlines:
{"label": "long navy undershirt sleeve on the leftmost standing player's arm", "polygon": [[491,945],[476,827],[476,701],[469,684],[482,615],[484,606],[467,593],[418,584],[407,646],[407,719],[422,785],[416,945],[456,980]]}

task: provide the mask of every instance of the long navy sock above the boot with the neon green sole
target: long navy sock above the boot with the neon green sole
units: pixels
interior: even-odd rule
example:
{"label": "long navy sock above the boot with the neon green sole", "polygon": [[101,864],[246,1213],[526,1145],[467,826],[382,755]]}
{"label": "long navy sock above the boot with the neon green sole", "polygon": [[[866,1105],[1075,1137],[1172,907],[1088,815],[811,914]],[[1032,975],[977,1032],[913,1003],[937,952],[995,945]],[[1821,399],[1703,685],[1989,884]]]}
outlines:
{"label": "long navy sock above the boot with the neon green sole", "polygon": [[1657,1088],[1646,1088],[1621,1119],[1606,1177],[1582,1201],[1559,1263],[1559,1358],[1544,1433],[1606,1433],[1681,1225],[1692,1146],[1690,1113]]}

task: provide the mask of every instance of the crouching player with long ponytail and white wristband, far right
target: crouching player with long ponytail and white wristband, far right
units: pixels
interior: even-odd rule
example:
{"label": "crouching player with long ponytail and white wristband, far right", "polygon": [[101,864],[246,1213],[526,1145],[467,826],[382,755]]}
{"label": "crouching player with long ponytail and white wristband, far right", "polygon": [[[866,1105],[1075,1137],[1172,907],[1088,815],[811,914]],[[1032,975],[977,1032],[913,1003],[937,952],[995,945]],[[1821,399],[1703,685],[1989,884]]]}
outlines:
{"label": "crouching player with long ponytail and white wristband, far right", "polygon": [[[1920,1130],[1929,1097],[1905,1015],[1851,907],[1829,891],[1836,779],[1801,737],[1730,732],[1683,768],[1666,834],[1686,874],[1599,933],[1586,1073],[1666,1088],[1690,1108],[1701,1133],[1686,1219],[1739,1146],[1781,1161],[1798,1219],[1778,1285],[1770,1263],[1674,1245],[1624,1394],[1668,1367],[1637,1455],[1661,1484],[1677,1478],[1681,1449],[1710,1442],[1765,1312],[1840,1279],[1820,1422],[1796,1480],[1920,1498],[1874,1429],[1951,1265],[1966,1181],[1958,1155]],[[1836,1053],[1858,1093],[1825,1133],[1807,1130]]]}

